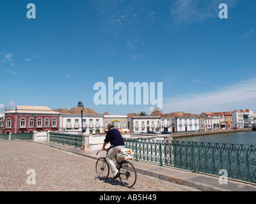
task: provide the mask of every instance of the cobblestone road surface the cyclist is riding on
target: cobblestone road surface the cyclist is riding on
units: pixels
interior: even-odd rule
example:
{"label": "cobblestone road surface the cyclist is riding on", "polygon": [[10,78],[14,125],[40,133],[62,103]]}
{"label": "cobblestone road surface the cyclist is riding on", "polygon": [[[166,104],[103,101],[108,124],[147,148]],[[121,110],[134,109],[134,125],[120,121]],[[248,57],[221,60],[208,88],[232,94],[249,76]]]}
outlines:
{"label": "cobblestone road surface the cyclist is riding on", "polygon": [[[128,189],[118,179],[99,180],[95,162],[37,143],[0,140],[0,191],[195,191],[141,174]],[[31,169],[36,184],[29,185]]]}

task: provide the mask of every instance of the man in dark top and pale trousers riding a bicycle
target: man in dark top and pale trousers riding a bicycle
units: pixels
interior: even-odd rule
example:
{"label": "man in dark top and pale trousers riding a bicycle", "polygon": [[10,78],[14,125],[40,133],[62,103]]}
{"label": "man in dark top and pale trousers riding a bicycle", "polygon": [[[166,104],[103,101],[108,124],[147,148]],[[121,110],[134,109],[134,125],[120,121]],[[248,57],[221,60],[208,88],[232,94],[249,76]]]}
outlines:
{"label": "man in dark top and pale trousers riding a bicycle", "polygon": [[[109,142],[111,146],[106,149],[105,147]],[[122,135],[120,134],[120,131],[118,131],[118,129],[114,129],[113,124],[108,124],[108,132],[104,140],[102,150],[109,151],[108,156],[106,157],[106,161],[108,162],[110,170],[113,173],[113,179],[116,179],[118,177],[118,170],[116,169],[115,163],[112,159],[115,157],[116,160],[116,154],[119,152],[120,149],[124,147],[125,143]]]}

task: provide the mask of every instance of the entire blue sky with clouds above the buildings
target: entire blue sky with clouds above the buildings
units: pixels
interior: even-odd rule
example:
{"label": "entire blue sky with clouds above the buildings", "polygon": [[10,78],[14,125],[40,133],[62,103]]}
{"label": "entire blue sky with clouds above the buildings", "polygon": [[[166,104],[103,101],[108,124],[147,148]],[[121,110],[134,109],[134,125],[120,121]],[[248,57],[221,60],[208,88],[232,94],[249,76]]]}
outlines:
{"label": "entire blue sky with clouds above the buildings", "polygon": [[[228,19],[218,17],[220,3]],[[256,112],[255,8],[254,0],[2,0],[0,112],[83,101],[98,113],[150,113],[152,105],[95,105],[93,85],[108,77],[127,87],[163,82],[163,113]]]}

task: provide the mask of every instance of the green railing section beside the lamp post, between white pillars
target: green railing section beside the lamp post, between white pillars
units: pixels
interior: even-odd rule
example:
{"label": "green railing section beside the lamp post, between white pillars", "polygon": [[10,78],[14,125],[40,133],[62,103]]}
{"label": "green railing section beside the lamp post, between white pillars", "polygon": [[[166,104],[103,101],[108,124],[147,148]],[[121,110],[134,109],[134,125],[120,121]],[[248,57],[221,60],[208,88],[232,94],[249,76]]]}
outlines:
{"label": "green railing section beside the lamp post, between white pillars", "polygon": [[82,135],[71,135],[63,133],[50,133],[50,142],[82,148]]}

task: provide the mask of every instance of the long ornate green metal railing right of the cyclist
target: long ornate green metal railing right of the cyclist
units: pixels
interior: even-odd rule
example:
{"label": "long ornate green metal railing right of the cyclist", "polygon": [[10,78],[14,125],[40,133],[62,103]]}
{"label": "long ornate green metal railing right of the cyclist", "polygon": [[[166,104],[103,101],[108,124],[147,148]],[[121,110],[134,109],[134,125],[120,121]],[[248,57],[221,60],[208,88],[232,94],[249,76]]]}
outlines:
{"label": "long ornate green metal railing right of the cyclist", "polygon": [[136,161],[219,176],[226,170],[230,179],[256,183],[255,145],[125,139],[125,147]]}

